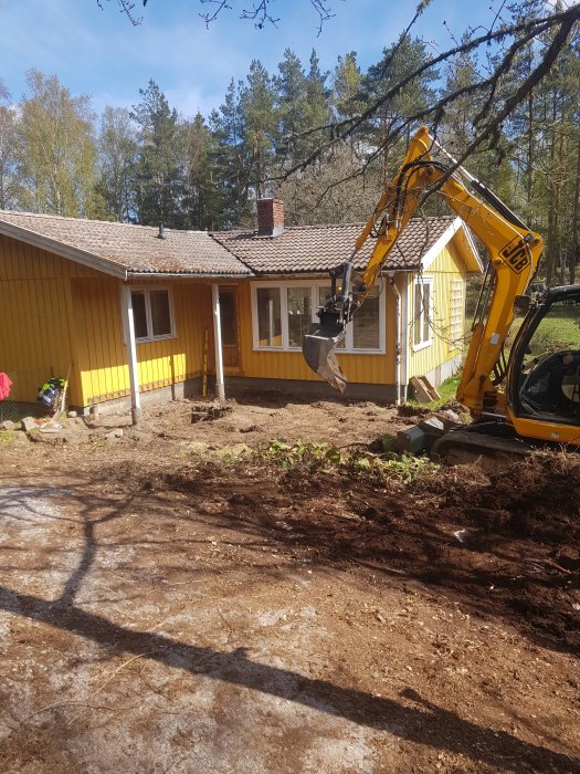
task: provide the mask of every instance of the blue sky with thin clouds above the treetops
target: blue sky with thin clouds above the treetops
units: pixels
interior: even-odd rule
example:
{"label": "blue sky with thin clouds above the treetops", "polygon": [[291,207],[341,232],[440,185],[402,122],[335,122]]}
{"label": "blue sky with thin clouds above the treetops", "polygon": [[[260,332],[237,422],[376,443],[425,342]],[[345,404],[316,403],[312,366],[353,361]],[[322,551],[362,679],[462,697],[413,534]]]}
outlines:
{"label": "blue sky with thin clouds above the treetops", "polygon": [[[284,50],[307,64],[316,49],[323,70],[357,51],[363,69],[377,62],[412,18],[416,0],[328,0],[336,15],[317,36],[318,17],[309,0],[275,0],[277,29],[255,30],[241,21],[252,0],[230,0],[209,30],[199,17],[199,0],[149,0],[133,27],[115,0],[0,0],[0,80],[14,102],[25,90],[25,72],[35,67],[57,75],[73,94],[88,94],[101,112],[105,105],[130,106],[152,77],[171,106],[186,117],[208,115],[223,101],[230,79],[243,79],[252,59],[276,71]],[[415,34],[434,49],[453,44],[468,24],[489,22],[499,0],[432,0]],[[446,21],[449,29],[443,24]]]}

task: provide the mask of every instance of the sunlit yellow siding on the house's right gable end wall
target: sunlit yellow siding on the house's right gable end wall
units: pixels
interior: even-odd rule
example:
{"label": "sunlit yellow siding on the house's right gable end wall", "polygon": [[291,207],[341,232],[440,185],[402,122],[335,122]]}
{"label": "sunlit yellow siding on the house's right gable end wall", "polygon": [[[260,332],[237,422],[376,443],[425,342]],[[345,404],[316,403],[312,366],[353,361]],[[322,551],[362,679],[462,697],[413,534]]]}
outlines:
{"label": "sunlit yellow siding on the house's right gable end wall", "polygon": [[[422,348],[413,346],[414,279],[409,278],[409,377],[423,376],[460,354],[451,337],[451,286],[454,280],[465,280],[465,273],[455,254],[453,242],[443,248],[425,270],[425,278],[433,279],[433,314],[431,318],[432,343]],[[462,316],[462,322],[464,317]]]}

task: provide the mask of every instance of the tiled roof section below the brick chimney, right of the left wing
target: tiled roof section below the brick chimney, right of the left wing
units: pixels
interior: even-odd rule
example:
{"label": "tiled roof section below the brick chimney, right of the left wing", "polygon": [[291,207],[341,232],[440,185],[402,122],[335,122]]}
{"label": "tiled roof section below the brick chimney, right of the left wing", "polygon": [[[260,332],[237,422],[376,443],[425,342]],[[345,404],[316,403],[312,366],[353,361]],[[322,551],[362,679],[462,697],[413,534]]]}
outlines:
{"label": "tiled roof section below the brick chimney, right of the left wing", "polygon": [[[420,259],[454,221],[453,216],[409,221],[391,252],[386,269],[414,270]],[[355,245],[363,223],[287,228],[277,237],[257,237],[255,231],[219,231],[212,236],[256,274],[327,272],[342,263]],[[363,269],[375,240],[367,239],[355,266]]]}

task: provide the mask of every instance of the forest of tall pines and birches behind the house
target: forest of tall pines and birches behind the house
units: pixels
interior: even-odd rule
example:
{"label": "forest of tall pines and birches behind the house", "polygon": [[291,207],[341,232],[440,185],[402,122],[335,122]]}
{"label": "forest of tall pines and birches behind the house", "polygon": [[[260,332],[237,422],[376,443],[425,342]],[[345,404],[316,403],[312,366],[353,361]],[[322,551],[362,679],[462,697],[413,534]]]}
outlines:
{"label": "forest of tall pines and birches behind the house", "polygon": [[[18,103],[0,82],[0,209],[222,230],[254,227],[255,200],[275,196],[288,226],[361,221],[410,134],[426,123],[544,234],[547,281],[573,283],[580,39],[576,24],[550,61],[558,28],[542,25],[545,15],[539,0],[515,4],[500,23],[527,30],[517,45],[498,23],[479,31],[478,45],[478,31],[467,30],[444,56],[410,24],[365,71],[355,51],[327,72],[315,50],[302,62],[287,49],[272,73],[253,60],[205,116],[179,115],[154,80],[135,104],[97,115],[89,96],[31,70]],[[547,72],[506,113],[546,61]],[[482,126],[492,130],[473,148]],[[432,197],[425,211],[444,208]]]}

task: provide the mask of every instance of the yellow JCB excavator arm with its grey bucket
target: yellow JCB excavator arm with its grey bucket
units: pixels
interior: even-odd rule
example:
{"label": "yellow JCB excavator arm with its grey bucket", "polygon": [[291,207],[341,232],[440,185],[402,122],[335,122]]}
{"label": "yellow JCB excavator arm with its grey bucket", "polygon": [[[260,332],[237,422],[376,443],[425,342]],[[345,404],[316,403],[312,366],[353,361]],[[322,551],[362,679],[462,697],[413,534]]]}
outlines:
{"label": "yellow JCB excavator arm with its grey bucket", "polygon": [[[304,338],[303,352],[308,365],[331,386],[342,390],[346,378],[335,356],[335,347],[346,326],[363,303],[426,191],[434,188],[449,207],[483,242],[489,258],[489,294],[481,320],[474,324],[457,399],[477,416],[486,407],[502,402],[492,381],[502,347],[514,320],[514,302],[523,295],[534,276],[544,241],[530,231],[489,189],[462,167],[477,191],[472,194],[456,174],[432,156],[437,146],[426,127],[411,138],[409,148],[393,180],[386,186],[377,208],[358,237],[355,249],[333,278],[333,295],[320,310],[320,323],[314,324]],[[454,161],[454,159],[452,159]],[[376,243],[362,274],[354,269],[354,259],[367,239]],[[341,285],[337,291],[337,274]]]}

